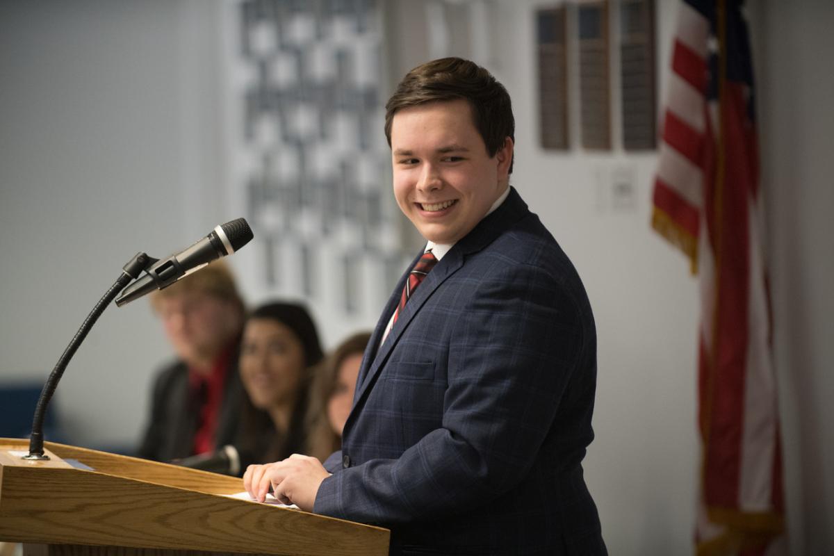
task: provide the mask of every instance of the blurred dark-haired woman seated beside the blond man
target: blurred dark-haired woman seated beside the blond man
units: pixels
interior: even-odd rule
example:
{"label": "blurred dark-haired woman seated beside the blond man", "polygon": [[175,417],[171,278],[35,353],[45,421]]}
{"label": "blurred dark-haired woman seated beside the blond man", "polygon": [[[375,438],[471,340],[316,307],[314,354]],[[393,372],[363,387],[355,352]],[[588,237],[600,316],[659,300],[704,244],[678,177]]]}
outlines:
{"label": "blurred dark-haired woman seated beside the blond man", "polygon": [[242,471],[304,453],[310,368],[321,358],[319,334],[302,305],[268,303],[249,315],[239,362],[249,394],[237,443]]}

